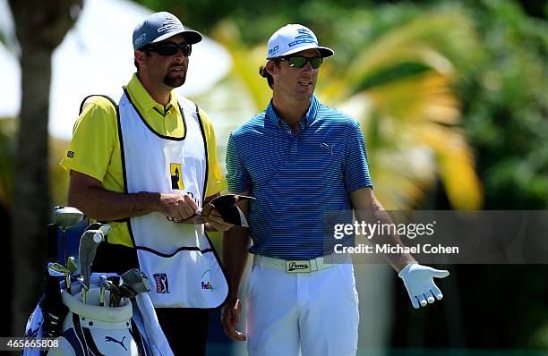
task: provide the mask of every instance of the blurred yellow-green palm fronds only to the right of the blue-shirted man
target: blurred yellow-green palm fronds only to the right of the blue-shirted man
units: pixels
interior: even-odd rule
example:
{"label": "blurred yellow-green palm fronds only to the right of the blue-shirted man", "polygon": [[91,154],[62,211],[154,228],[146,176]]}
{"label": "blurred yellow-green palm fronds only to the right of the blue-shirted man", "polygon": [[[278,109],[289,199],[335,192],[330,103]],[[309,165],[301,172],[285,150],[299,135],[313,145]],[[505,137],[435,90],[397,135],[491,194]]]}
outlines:
{"label": "blurred yellow-green palm fronds only to the right of the blue-shirted man", "polygon": [[[436,174],[453,208],[481,207],[481,184],[451,89],[459,66],[469,65],[478,51],[465,16],[425,14],[364,48],[326,88],[343,111],[361,118],[386,208],[412,208]],[[394,77],[398,70],[404,74]]]}

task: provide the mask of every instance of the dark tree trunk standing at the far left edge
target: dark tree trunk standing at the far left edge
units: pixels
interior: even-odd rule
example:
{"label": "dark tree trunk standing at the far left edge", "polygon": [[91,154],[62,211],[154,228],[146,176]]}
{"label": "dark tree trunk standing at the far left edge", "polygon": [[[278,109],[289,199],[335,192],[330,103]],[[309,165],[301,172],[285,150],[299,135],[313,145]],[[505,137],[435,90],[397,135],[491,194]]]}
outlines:
{"label": "dark tree trunk standing at the far left edge", "polygon": [[[21,335],[26,318],[40,294],[46,257],[45,225],[51,211],[47,113],[51,55],[73,27],[81,0],[10,0],[21,47],[22,99],[13,159],[12,335]],[[31,9],[31,11],[30,11]]]}

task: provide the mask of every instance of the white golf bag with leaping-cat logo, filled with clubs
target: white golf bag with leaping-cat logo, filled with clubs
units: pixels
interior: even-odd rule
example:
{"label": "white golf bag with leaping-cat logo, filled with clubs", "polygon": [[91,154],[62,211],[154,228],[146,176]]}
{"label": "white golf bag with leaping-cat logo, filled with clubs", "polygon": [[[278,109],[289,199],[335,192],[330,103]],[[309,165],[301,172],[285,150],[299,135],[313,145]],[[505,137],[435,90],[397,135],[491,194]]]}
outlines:
{"label": "white golf bag with leaping-cat logo, filled with clubs", "polygon": [[[64,229],[69,225],[61,224]],[[136,269],[121,276],[90,273],[95,250],[108,231],[109,226],[96,223],[81,235],[78,271],[70,263],[48,263],[46,292],[29,318],[25,337],[55,337],[56,347],[26,348],[23,356],[173,355],[146,293],[146,275]]]}

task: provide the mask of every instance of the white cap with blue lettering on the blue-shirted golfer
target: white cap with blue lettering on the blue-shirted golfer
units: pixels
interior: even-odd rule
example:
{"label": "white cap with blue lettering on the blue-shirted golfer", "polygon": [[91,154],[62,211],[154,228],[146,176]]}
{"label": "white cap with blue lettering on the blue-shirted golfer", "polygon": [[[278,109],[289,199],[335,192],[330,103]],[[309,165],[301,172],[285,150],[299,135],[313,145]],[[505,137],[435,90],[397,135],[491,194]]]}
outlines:
{"label": "white cap with blue lettering on the blue-shirted golfer", "polygon": [[267,59],[292,55],[305,49],[317,49],[322,57],[329,57],[335,53],[331,48],[318,46],[318,38],[312,30],[292,23],[277,30],[270,37]]}

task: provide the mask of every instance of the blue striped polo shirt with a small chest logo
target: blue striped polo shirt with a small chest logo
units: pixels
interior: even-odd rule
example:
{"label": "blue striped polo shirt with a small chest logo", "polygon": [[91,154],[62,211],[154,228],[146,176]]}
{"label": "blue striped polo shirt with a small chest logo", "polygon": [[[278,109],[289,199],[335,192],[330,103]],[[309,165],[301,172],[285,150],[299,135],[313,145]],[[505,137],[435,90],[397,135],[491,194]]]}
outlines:
{"label": "blue striped polo shirt with a small chest logo", "polygon": [[352,117],[312,98],[295,134],[272,102],[230,133],[227,182],[250,191],[250,252],[278,259],[323,255],[323,219],[350,210],[350,193],[372,186],[365,142]]}

